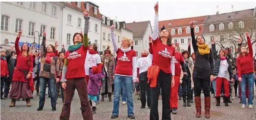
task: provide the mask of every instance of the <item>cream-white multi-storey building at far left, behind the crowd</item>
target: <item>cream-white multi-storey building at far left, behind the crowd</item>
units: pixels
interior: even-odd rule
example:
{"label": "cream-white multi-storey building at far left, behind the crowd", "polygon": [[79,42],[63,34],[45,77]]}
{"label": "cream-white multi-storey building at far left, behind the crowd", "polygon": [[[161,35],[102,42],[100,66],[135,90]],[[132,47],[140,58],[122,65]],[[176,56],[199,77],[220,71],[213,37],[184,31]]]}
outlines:
{"label": "cream-white multi-storey building at far left, behind the crowd", "polygon": [[[60,40],[60,13],[63,6],[64,2],[1,2],[1,46],[6,49],[14,46],[20,30],[23,32],[19,46],[22,42],[28,42],[31,46],[34,40],[38,44],[38,33],[43,31],[47,32],[46,44],[54,45]],[[38,49],[38,46],[34,48]]]}

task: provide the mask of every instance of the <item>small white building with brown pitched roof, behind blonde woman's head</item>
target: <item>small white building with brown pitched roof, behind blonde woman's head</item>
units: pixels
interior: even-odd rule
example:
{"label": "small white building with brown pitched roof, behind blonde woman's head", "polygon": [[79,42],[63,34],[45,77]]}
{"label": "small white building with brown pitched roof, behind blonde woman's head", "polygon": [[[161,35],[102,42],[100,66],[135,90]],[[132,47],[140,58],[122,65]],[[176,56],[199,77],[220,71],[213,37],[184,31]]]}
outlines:
{"label": "small white building with brown pitched roof, behind blonde woman's head", "polygon": [[150,21],[126,23],[126,28],[133,31],[133,49],[137,58],[141,57],[142,50],[149,51],[149,35],[152,35]]}

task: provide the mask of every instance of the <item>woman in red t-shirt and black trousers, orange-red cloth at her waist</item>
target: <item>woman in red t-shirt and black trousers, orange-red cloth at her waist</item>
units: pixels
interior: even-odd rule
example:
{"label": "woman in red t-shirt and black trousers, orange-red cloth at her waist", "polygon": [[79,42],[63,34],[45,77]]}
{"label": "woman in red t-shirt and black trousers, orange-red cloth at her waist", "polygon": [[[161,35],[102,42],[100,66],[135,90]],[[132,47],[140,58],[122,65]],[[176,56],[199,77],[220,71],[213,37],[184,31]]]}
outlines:
{"label": "woman in red t-shirt and black trousers, orange-red cloth at her waist", "polygon": [[150,81],[151,109],[150,120],[159,120],[158,115],[158,95],[161,88],[162,96],[162,120],[171,120],[170,93],[174,86],[174,53],[171,46],[171,33],[162,30],[158,38],[158,3],[155,4],[155,22],[152,35],[153,61],[148,69],[148,79]]}

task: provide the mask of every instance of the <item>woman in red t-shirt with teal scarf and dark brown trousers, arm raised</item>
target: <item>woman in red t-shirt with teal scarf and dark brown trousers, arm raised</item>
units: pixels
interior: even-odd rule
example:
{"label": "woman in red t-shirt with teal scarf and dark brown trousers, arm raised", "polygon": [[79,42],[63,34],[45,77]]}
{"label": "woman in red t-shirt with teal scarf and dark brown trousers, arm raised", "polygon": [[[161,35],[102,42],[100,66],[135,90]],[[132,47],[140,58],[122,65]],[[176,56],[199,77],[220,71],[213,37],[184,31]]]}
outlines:
{"label": "woman in red t-shirt with teal scarf and dark brown trousers, arm raised", "polygon": [[65,99],[60,114],[60,120],[70,120],[70,105],[72,94],[77,89],[81,112],[84,120],[93,120],[92,108],[87,96],[87,82],[85,80],[85,58],[88,50],[88,29],[89,14],[83,13],[85,19],[84,35],[75,33],[73,36],[74,45],[70,45],[66,51],[64,66],[61,75],[61,86],[65,89]]}

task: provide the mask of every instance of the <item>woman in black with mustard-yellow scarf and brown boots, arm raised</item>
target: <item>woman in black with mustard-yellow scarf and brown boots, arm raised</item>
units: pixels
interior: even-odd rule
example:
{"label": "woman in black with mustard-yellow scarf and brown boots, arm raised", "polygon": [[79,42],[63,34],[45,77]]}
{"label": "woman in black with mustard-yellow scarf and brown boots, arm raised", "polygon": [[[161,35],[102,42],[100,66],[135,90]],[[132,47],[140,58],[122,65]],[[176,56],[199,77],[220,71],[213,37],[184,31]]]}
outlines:
{"label": "woman in black with mustard-yellow scarf and brown boots, arm raised", "polygon": [[205,96],[205,117],[210,118],[211,97],[210,86],[214,79],[213,53],[212,49],[205,44],[201,35],[195,38],[193,22],[190,22],[192,46],[196,55],[196,62],[193,71],[194,94],[196,101],[196,117],[201,116],[201,89]]}

